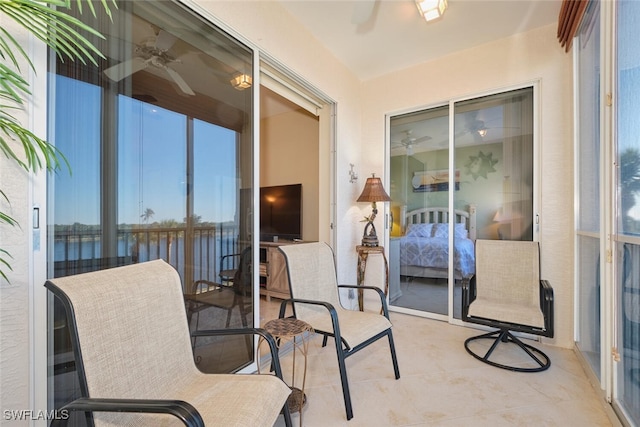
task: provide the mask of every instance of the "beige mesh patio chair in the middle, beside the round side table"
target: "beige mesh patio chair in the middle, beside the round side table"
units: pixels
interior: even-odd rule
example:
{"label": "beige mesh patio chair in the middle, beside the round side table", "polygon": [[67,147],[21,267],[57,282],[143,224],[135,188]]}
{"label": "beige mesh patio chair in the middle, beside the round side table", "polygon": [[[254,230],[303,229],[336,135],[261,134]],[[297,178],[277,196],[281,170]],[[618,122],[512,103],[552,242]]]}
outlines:
{"label": "beige mesh patio chair in the middle, beside the round side table", "polygon": [[[333,251],[325,243],[296,243],[280,246],[279,249],[287,262],[291,290],[291,299],[282,301],[279,317],[284,317],[287,305],[292,304],[293,317],[307,322],[316,333],[323,335],[323,347],[328,337],[335,339],[342,394],[347,419],[350,420],[353,418],[353,408],[345,366],[347,357],[387,337],[395,378],[400,378],[385,295],[373,286],[338,286]],[[382,314],[343,308],[338,288],[377,292]]]}

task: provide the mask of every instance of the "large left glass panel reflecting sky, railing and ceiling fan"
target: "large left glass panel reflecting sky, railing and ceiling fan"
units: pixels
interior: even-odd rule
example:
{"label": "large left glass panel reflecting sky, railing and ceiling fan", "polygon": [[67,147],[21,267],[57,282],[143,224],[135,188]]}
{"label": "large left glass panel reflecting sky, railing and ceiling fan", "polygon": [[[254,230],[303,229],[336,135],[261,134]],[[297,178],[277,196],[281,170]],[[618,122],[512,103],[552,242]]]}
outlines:
{"label": "large left glass panel reflecting sky, railing and ceiling fan", "polygon": [[[240,291],[220,277],[223,259],[240,273],[249,266],[239,254],[251,259],[240,199],[251,210],[252,52],[177,3],[113,12],[99,17],[106,40],[94,42],[107,59],[98,68],[54,61],[50,70],[49,140],[72,173],[49,181],[49,274],[164,259],[186,294],[230,287],[233,298],[216,304],[187,300],[192,329],[253,326],[252,284]],[[78,397],[60,308],[52,298],[51,408]],[[194,357],[202,371],[232,372],[254,360],[247,344],[198,339]]]}

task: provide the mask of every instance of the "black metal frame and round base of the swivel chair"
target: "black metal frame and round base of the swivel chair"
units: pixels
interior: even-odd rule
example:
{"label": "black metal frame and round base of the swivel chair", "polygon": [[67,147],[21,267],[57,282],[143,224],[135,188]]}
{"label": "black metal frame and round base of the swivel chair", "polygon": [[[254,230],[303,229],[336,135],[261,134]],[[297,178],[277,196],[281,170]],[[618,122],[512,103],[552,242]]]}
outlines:
{"label": "black metal frame and round base of the swivel chair", "polygon": [[[553,288],[547,280],[540,280],[540,310],[542,311],[544,316],[544,328],[520,325],[517,323],[504,322],[494,319],[486,319],[483,317],[469,316],[469,305],[475,299],[476,278],[475,276],[472,276],[471,278],[466,278],[463,280],[462,320],[465,322],[498,328],[498,330],[474,336],[465,340],[464,348],[470,355],[491,366],[515,372],[540,372],[548,369],[549,366],[551,366],[551,360],[544,352],[529,344],[525,344],[517,336],[511,333],[521,332],[549,338],[553,337]],[[469,344],[472,341],[479,339],[490,339],[494,341],[489,350],[484,355],[477,354],[469,348]],[[527,353],[529,357],[531,357],[538,364],[538,366],[533,368],[523,368],[518,366],[504,365],[490,360],[489,358],[493,354],[493,351],[498,347],[498,344],[500,343],[513,343],[517,345],[525,353]]]}

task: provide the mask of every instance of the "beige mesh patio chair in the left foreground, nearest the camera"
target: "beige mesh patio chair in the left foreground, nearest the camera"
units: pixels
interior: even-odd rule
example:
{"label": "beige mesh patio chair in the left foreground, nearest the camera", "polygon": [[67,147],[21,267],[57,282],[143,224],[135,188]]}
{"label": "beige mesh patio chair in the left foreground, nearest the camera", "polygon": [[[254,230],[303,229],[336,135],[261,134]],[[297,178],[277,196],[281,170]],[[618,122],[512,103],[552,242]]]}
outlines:
{"label": "beige mesh patio chair in the left foreground, nearest the camera", "polygon": [[194,335],[259,334],[269,343],[276,375],[196,368],[180,277],[164,261],[51,279],[45,286],[66,308],[82,394],[61,409],[85,412],[88,425],[272,426],[281,411],[291,425],[285,405],[291,390],[265,331]]}

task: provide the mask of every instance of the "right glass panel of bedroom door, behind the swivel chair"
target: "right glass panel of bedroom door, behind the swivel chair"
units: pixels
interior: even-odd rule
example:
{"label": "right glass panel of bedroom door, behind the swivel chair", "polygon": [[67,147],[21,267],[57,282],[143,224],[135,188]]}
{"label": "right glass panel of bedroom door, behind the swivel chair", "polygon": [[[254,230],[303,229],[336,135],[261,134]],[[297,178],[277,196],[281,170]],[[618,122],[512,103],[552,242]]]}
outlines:
{"label": "right glass panel of bedroom door, behind the swivel chair", "polygon": [[[454,318],[461,318],[461,279],[475,270],[475,239],[533,240],[533,88],[454,106],[454,207],[471,226],[455,226]],[[475,227],[473,227],[475,225]]]}

